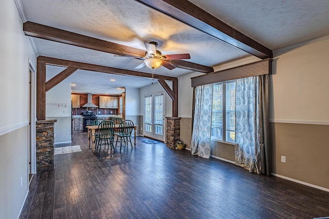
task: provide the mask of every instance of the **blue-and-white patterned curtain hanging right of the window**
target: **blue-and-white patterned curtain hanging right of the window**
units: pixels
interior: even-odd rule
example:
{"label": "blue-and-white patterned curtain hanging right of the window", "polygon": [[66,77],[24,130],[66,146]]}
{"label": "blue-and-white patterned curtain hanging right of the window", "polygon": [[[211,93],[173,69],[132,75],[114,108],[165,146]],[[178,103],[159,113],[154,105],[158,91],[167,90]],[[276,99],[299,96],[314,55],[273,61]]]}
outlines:
{"label": "blue-and-white patterned curtain hanging right of the window", "polygon": [[235,164],[259,174],[259,77],[237,79],[235,95]]}

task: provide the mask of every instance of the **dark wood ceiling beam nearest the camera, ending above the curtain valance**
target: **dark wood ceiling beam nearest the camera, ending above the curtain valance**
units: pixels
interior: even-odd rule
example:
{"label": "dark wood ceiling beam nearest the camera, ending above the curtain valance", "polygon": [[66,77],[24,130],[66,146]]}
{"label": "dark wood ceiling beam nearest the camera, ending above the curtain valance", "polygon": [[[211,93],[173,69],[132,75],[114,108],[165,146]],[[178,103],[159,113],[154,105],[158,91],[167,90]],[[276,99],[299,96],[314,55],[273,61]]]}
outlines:
{"label": "dark wood ceiling beam nearest the camera, ending above the curtain valance", "polygon": [[259,58],[273,52],[187,0],[135,0]]}

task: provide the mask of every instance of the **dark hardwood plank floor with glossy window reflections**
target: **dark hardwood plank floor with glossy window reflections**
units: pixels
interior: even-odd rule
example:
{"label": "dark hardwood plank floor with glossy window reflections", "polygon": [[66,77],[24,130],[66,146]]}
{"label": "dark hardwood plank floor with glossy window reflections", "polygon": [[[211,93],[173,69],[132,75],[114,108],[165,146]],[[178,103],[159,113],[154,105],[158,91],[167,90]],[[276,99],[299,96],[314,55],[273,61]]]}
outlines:
{"label": "dark hardwood plank floor with glossy window reflections", "polygon": [[[313,218],[329,216],[329,193],[249,173],[165,144],[55,156],[32,178],[20,218]],[[307,173],[305,173],[307,174]]]}

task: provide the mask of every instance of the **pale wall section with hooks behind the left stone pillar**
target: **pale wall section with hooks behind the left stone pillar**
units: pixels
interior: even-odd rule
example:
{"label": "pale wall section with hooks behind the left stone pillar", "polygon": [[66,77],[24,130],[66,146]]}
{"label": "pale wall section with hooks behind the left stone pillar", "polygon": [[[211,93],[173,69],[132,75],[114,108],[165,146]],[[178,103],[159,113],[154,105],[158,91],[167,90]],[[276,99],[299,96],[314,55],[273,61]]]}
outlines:
{"label": "pale wall section with hooks behind the left stone pillar", "polygon": [[46,119],[56,118],[54,143],[71,142],[71,84],[61,82],[46,92]]}

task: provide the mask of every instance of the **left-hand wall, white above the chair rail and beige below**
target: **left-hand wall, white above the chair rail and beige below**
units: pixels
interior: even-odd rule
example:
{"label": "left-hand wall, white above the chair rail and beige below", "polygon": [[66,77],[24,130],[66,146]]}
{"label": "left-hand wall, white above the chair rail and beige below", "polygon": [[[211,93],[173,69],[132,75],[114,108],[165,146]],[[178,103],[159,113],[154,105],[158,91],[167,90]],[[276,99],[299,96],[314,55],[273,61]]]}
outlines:
{"label": "left-hand wall, white above the chair rail and beige below", "polygon": [[28,60],[36,66],[36,55],[14,1],[0,1],[0,30],[0,217],[17,218],[28,192]]}

